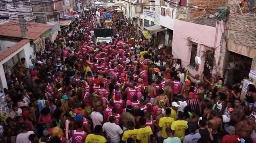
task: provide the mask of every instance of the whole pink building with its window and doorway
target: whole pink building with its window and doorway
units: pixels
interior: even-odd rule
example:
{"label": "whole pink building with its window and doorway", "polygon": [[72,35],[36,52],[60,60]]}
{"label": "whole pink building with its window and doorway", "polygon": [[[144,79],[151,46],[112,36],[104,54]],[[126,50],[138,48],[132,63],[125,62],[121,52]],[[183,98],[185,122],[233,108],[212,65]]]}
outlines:
{"label": "whole pink building with its window and doorway", "polygon": [[181,67],[193,76],[218,72],[222,28],[223,22],[217,22],[217,18],[201,16],[190,22],[175,19],[172,55],[181,59]]}

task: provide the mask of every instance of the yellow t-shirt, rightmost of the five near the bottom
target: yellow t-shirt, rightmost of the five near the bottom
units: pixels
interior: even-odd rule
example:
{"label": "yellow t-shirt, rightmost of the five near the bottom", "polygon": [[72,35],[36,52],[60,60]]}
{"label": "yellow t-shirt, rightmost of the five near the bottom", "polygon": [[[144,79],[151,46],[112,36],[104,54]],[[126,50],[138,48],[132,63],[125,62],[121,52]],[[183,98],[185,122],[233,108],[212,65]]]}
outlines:
{"label": "yellow t-shirt, rightmost of the five near the bottom", "polygon": [[171,127],[171,129],[174,131],[174,137],[179,137],[180,140],[183,141],[185,137],[185,130],[188,127],[187,121],[185,120],[174,121]]}

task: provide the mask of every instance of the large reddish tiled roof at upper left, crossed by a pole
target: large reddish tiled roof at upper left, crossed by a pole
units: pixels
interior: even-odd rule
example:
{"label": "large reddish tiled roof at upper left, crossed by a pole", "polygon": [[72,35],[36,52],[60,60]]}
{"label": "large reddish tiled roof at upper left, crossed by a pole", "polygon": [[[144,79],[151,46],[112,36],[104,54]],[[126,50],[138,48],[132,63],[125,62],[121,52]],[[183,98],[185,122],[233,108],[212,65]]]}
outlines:
{"label": "large reddish tiled roof at upper left, crossed by a pole", "polygon": [[[26,22],[27,39],[36,40],[40,35],[49,30],[52,26],[37,22]],[[0,25],[0,36],[6,37],[21,37],[21,29],[19,21],[13,20]]]}

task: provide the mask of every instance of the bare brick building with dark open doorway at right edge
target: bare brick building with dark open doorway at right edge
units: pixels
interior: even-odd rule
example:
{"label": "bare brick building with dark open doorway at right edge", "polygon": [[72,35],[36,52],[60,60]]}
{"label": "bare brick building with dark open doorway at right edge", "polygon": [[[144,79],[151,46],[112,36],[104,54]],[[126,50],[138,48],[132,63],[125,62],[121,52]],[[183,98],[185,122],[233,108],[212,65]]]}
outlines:
{"label": "bare brick building with dark open doorway at right edge", "polygon": [[[220,75],[225,83],[233,85],[243,81],[241,95],[245,95],[248,84],[256,84],[256,77],[252,75],[256,71],[256,15],[252,8],[256,6],[255,1],[248,1],[248,8],[239,10],[236,0],[229,0],[227,9],[227,22],[223,34],[222,58]],[[251,74],[250,74],[251,72]],[[249,76],[249,78],[248,78]]]}

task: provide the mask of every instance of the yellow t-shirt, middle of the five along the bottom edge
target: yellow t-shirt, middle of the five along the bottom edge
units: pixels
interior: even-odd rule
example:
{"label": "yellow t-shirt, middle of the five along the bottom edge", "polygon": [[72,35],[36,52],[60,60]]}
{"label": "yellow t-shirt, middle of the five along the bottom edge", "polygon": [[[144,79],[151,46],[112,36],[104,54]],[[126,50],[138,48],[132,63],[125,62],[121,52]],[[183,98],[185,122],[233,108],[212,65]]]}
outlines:
{"label": "yellow t-shirt, middle of the five along the bottom edge", "polygon": [[151,127],[147,126],[145,128],[140,128],[137,131],[137,139],[141,140],[141,143],[148,143],[148,138],[152,134]]}

